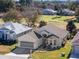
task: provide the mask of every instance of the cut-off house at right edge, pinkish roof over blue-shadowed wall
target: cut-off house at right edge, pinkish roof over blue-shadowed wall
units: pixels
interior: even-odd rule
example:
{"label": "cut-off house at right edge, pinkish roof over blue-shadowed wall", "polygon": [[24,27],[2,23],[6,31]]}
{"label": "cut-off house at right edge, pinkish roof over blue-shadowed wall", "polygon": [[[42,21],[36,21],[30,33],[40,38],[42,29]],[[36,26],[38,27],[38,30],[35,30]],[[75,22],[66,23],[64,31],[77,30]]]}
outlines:
{"label": "cut-off house at right edge, pinkish roof over blue-shadowed wall", "polygon": [[74,36],[72,40],[72,52],[79,55],[79,32]]}

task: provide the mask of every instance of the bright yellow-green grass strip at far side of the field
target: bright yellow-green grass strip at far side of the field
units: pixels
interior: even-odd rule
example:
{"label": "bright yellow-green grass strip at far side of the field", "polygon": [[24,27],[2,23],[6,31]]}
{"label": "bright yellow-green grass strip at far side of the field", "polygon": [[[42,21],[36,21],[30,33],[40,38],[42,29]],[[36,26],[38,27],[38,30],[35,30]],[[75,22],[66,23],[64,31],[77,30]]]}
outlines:
{"label": "bright yellow-green grass strip at far side of the field", "polygon": [[39,16],[40,20],[46,21],[46,22],[52,22],[52,21],[58,21],[58,22],[64,22],[67,19],[74,18],[74,16],[52,16],[52,15],[41,15]]}

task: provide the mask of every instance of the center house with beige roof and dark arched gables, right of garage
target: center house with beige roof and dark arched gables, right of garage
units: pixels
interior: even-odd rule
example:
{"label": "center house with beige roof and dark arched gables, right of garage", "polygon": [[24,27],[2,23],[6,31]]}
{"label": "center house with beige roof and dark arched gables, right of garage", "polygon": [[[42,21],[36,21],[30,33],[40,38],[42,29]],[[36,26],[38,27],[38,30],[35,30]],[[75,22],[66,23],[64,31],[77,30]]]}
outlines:
{"label": "center house with beige roof and dark arched gables, right of garage", "polygon": [[51,48],[62,47],[66,43],[66,40],[69,36],[68,31],[53,24],[48,24],[41,27],[38,30],[38,33],[43,37],[43,40],[46,39],[46,46]]}

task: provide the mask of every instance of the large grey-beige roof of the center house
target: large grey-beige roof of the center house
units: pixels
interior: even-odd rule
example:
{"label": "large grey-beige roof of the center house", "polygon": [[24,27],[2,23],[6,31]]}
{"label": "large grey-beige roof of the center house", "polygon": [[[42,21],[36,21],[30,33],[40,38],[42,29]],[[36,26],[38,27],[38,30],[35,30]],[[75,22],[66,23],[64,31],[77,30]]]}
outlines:
{"label": "large grey-beige roof of the center house", "polygon": [[51,23],[46,25],[46,26],[41,27],[38,30],[38,32],[40,33],[43,30],[48,31],[51,34],[58,36],[59,38],[64,38],[68,34],[68,31],[61,29],[61,28],[59,28],[59,27],[57,27],[57,26],[55,26],[54,24],[51,24]]}

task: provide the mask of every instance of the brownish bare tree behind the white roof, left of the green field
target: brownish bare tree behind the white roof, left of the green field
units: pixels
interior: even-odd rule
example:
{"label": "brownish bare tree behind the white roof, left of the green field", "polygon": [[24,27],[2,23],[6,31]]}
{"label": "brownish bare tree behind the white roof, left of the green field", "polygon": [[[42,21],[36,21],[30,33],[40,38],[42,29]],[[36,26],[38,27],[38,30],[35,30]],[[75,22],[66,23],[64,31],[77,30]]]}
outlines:
{"label": "brownish bare tree behind the white roof, left of the green field", "polygon": [[[27,11],[28,10],[28,11]],[[22,12],[23,17],[26,19],[28,26],[34,26],[35,23],[38,21],[38,11],[35,8],[26,8]],[[27,19],[28,18],[28,19]]]}

